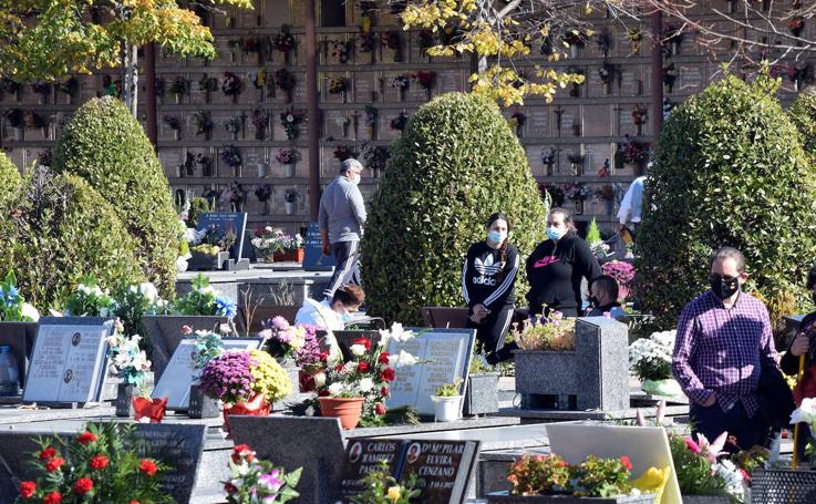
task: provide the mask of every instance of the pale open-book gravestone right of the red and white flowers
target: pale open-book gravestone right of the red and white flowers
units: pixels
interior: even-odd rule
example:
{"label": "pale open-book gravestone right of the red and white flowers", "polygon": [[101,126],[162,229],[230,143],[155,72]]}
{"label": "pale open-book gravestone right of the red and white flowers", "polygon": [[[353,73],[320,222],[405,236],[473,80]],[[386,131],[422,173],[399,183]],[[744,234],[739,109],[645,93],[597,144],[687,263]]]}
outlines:
{"label": "pale open-book gravestone right of the red and white flowers", "polygon": [[420,414],[433,415],[431,395],[440,387],[458,379],[459,390],[464,391],[476,331],[426,328],[413,330],[420,336],[404,342],[391,340],[389,353],[397,354],[400,350],[405,350],[420,361],[427,362],[396,370],[386,405],[389,409],[410,405],[416,408]]}

